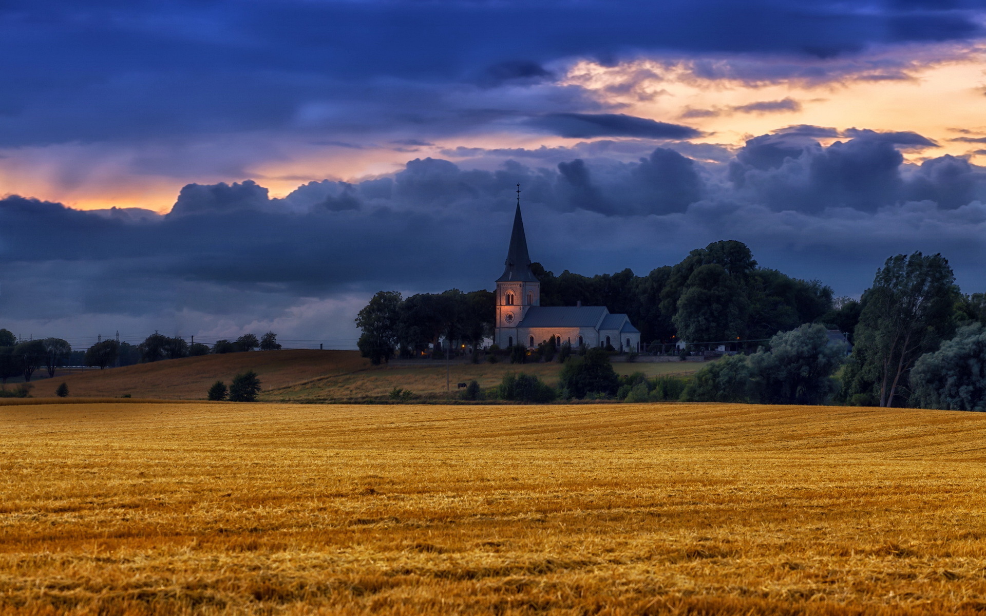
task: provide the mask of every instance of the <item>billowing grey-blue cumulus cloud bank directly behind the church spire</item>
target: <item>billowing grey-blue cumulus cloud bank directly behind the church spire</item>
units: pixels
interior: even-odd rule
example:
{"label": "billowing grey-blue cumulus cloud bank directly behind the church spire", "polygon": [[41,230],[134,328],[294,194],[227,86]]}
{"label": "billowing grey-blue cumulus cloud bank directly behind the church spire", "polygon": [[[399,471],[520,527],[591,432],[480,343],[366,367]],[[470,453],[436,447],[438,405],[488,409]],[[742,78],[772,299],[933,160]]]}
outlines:
{"label": "billowing grey-blue cumulus cloud bank directly behind the church spire", "polygon": [[[643,273],[736,239],[761,263],[840,294],[860,293],[886,256],[914,249],[945,252],[967,290],[983,290],[981,168],[951,156],[907,164],[895,142],[917,141],[909,136],[858,131],[825,147],[817,132],[761,135],[722,163],[652,147],[634,160],[507,159],[489,171],[416,159],[284,198],[250,180],[188,184],[167,215],[11,196],[0,200],[0,308],[8,322],[63,335],[51,327],[116,319],[184,333],[278,323],[352,341],[355,310],[379,289],[489,287],[518,183],[532,256],[555,271]],[[328,313],[346,316],[319,320]]]}

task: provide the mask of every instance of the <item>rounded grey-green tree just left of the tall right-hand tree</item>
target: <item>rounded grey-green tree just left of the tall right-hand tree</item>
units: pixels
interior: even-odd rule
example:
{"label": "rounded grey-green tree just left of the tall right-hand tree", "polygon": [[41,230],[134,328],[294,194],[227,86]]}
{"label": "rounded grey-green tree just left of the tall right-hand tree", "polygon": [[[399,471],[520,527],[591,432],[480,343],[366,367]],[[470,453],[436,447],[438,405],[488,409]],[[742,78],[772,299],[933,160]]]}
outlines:
{"label": "rounded grey-green tree just left of the tall right-hand tree", "polygon": [[751,397],[761,404],[824,404],[838,389],[832,375],[846,359],[845,343],[830,344],[824,325],[805,324],[770,339],[749,356]]}

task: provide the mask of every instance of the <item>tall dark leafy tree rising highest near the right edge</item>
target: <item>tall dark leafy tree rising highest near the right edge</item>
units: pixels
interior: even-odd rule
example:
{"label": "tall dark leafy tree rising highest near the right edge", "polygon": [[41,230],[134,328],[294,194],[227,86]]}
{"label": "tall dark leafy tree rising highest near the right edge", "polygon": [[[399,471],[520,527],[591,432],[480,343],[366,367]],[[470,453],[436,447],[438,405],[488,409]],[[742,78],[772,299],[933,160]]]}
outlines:
{"label": "tall dark leafy tree rising highest near the right edge", "polygon": [[880,406],[893,406],[898,397],[906,401],[903,386],[914,362],[951,337],[958,297],[949,261],[941,254],[886,259],[863,296],[843,397]]}

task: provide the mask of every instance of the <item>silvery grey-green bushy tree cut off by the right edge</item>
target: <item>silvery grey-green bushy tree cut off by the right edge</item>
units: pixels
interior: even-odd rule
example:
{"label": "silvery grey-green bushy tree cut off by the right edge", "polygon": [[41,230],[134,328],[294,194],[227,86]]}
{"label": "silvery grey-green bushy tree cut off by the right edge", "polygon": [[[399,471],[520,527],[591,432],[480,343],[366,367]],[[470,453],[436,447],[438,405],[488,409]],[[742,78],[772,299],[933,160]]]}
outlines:
{"label": "silvery grey-green bushy tree cut off by the right edge", "polygon": [[912,406],[986,411],[986,327],[961,327],[938,351],[918,358],[910,385]]}

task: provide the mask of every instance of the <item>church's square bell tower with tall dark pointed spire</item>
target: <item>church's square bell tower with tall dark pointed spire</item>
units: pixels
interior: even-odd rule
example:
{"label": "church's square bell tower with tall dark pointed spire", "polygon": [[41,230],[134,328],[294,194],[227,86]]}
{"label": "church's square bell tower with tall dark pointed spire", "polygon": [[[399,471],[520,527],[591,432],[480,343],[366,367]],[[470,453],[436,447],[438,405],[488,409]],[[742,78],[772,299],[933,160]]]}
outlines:
{"label": "church's square bell tower with tall dark pointed spire", "polygon": [[501,348],[519,344],[517,326],[528,309],[541,304],[541,283],[530,271],[528,239],[521,217],[521,184],[517,185],[517,211],[507,248],[506,267],[496,281],[496,332],[494,342]]}

